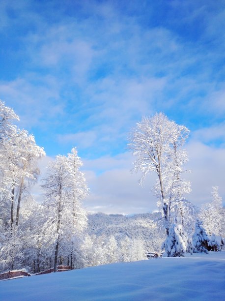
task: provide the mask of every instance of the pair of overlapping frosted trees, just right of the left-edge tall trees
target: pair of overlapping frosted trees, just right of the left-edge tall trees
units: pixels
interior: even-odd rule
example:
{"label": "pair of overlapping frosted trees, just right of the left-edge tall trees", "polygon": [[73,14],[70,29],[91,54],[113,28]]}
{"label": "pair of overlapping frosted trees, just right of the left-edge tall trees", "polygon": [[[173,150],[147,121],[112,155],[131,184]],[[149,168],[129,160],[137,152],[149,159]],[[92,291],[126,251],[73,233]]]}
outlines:
{"label": "pair of overlapping frosted trees, just right of the left-edge tall trees", "polygon": [[55,249],[54,271],[57,270],[59,247],[66,249],[74,266],[74,255],[78,255],[75,242],[79,240],[86,225],[86,214],[81,200],[87,193],[84,175],[79,171],[80,158],[75,149],[66,156],[58,155],[48,165],[48,174],[42,187],[45,190],[47,220],[45,233]]}

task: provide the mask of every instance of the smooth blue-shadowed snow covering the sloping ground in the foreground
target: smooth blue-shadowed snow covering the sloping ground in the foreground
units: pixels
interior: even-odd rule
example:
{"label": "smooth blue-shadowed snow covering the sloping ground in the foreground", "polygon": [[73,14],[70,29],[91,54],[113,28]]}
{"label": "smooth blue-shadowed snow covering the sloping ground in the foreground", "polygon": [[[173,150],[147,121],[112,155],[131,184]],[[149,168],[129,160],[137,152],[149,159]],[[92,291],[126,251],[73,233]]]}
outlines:
{"label": "smooth blue-shadowed snow covering the sloping ground in the foreground", "polygon": [[225,252],[0,281],[0,300],[225,300]]}

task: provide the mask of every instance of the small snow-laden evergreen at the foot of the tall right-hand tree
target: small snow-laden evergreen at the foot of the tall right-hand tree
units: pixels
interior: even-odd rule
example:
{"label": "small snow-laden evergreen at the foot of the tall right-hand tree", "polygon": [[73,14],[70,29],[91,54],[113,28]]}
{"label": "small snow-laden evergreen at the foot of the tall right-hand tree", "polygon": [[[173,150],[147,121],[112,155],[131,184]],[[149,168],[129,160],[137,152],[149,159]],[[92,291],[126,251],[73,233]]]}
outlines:
{"label": "small snow-laden evergreen at the foot of the tall right-hand tree", "polygon": [[188,246],[188,236],[183,229],[181,218],[176,217],[169,228],[169,236],[162,244],[163,257],[184,256]]}

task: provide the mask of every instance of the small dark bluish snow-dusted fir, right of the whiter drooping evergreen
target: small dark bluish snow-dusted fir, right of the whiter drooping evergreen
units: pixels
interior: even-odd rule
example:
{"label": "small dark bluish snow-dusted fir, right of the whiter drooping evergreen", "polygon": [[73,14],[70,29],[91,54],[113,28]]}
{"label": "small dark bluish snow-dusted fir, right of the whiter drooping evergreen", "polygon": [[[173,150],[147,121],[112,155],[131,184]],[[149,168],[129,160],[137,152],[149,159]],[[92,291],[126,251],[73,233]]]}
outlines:
{"label": "small dark bluish snow-dusted fir, right of the whiter drooping evergreen", "polygon": [[203,228],[202,221],[196,221],[195,232],[192,236],[194,252],[196,253],[208,253],[207,245],[209,243],[209,237]]}

